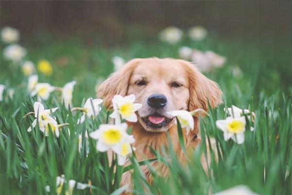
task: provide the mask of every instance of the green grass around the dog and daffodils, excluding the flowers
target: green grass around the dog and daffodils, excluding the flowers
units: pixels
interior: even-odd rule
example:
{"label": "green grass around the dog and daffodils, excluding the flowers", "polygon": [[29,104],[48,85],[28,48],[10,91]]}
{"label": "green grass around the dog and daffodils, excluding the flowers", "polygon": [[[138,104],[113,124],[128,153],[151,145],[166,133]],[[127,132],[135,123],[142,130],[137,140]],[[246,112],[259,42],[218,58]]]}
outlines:
{"label": "green grass around the dog and daffodils, excluding the flowers", "polygon": [[[28,50],[26,58],[34,62],[48,59],[53,64],[54,74],[51,77],[39,74],[40,82],[63,86],[76,80],[74,106],[81,106],[84,99],[95,97],[97,78],[107,77],[113,71],[112,56],[119,55],[125,59],[178,58],[181,45],[213,50],[227,57],[224,67],[206,74],[218,82],[224,94],[224,104],[209,111],[210,117],[201,118],[202,144],[186,166],[178,162],[171,148],[168,153],[153,151],[157,157],[155,160],[169,167],[170,175],[167,178],[159,176],[149,161],[145,161],[144,166],[150,168],[154,177],[153,183],[149,184],[141,174],[134,155],[130,158],[130,167],[116,166],[115,161],[110,166],[106,154],[95,150],[96,141],[91,138],[87,147],[89,154],[86,155],[85,130],[92,132],[101,123],[107,122],[105,109],[94,120],[87,119],[85,123],[76,125],[81,113],[68,112],[60,101],[60,94],[55,92],[44,104],[46,108],[59,107],[55,112],[58,123],[68,122],[69,126],[62,128],[58,138],[53,135],[44,137],[37,128],[27,132],[33,117],[22,117],[33,111],[36,98],[28,95],[27,78],[20,67],[1,56],[0,83],[15,89],[15,94],[13,98],[0,102],[0,194],[46,194],[47,185],[51,186],[54,194],[55,178],[64,174],[67,180],[91,182],[91,189],[75,189],[74,194],[117,195],[124,190],[119,185],[121,174],[129,169],[133,171],[133,193],[139,195],[145,194],[145,189],[147,194],[153,195],[207,195],[239,184],[247,185],[262,195],[292,194],[292,71],[288,43],[280,42],[275,46],[270,42],[240,42],[211,36],[201,42],[184,39],[175,46],[151,38],[150,41],[135,39],[120,47],[106,47],[98,44],[99,40],[88,46],[82,39],[74,37],[65,40],[40,38],[37,36],[22,42]],[[242,76],[233,76],[234,65],[240,67]],[[224,141],[222,132],[215,125],[217,119],[226,117],[223,108],[232,104],[256,113],[256,130],[245,133],[242,145],[232,140]],[[83,140],[81,153],[78,152],[79,134]],[[200,159],[206,153],[205,140],[210,137],[216,138],[221,155],[216,163],[211,150],[209,173],[212,174],[206,175],[201,169]]]}

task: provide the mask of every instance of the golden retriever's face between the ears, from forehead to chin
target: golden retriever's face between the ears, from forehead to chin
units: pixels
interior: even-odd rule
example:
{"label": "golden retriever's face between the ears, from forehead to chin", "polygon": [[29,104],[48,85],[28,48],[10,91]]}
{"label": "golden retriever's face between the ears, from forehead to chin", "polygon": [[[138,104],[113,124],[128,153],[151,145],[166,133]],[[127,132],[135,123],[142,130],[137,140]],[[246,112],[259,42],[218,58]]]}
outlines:
{"label": "golden retriever's face between the ears, from forehead to chin", "polygon": [[127,94],[134,94],[143,105],[138,120],[146,131],[167,131],[174,125],[174,118],[167,112],[188,109],[188,76],[175,60],[146,59],[134,69]]}

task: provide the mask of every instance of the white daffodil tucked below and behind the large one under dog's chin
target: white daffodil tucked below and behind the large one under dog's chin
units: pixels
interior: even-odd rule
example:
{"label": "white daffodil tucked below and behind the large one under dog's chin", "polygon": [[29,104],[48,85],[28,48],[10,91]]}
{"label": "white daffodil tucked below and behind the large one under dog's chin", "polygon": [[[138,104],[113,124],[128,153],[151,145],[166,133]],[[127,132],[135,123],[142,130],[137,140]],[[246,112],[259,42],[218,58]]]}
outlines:
{"label": "white daffodil tucked below and behind the large one under dog's chin", "polygon": [[125,164],[127,156],[132,153],[130,144],[134,142],[134,137],[127,134],[121,143],[112,146],[112,150],[117,154],[118,157],[118,165],[123,166]]}

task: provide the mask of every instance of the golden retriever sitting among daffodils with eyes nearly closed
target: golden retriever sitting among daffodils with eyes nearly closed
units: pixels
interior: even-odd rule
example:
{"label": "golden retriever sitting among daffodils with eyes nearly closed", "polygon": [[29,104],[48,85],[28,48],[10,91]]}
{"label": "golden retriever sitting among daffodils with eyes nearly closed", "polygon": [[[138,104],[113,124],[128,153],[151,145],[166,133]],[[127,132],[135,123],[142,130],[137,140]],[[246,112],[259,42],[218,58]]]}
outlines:
{"label": "golden retriever sitting among daffodils with eyes nearly closed", "polygon": [[[172,110],[193,111],[201,108],[208,110],[208,105],[217,107],[222,102],[219,86],[206,78],[188,61],[182,59],[132,59],[124,67],[110,75],[98,88],[97,96],[104,99],[107,109],[111,108],[114,95],[134,94],[136,102],[143,106],[136,112],[138,122],[127,122],[132,126],[135,138],[137,160],[154,158],[151,148],[161,150],[168,145],[166,132],[169,132],[173,149],[181,162],[185,156],[179,143],[175,118],[167,114]],[[196,148],[200,144],[199,117],[194,117],[195,126],[186,135],[183,130],[185,147]],[[128,162],[129,163],[129,162]],[[167,175],[167,168],[159,162],[152,162],[153,167],[162,175]],[[147,166],[141,166],[146,179],[152,177]],[[131,173],[122,177],[122,185],[131,184]]]}

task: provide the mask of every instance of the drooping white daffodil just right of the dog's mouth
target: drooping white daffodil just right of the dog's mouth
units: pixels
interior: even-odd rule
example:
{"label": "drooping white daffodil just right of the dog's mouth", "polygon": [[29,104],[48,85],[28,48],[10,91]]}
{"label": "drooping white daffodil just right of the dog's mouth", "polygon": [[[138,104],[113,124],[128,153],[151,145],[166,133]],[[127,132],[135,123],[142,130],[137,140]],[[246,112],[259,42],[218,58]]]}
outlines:
{"label": "drooping white daffodil just right of the dog's mouth", "polygon": [[194,129],[194,118],[190,112],[185,110],[174,110],[167,112],[167,114],[179,119],[182,128],[186,129],[186,134],[188,134],[190,130]]}

